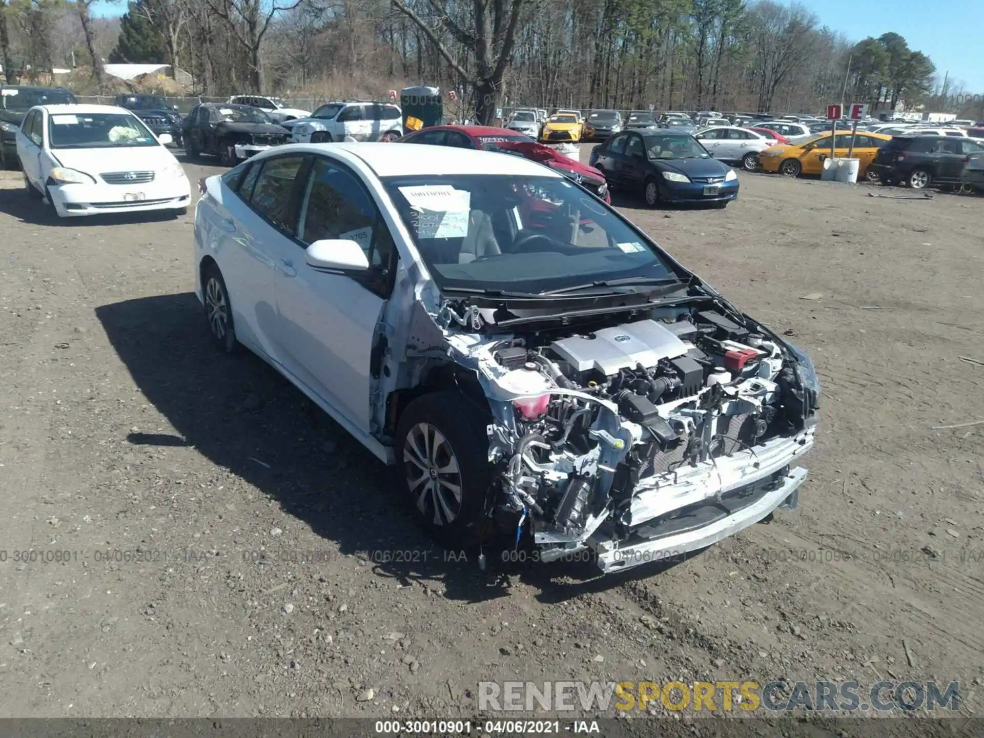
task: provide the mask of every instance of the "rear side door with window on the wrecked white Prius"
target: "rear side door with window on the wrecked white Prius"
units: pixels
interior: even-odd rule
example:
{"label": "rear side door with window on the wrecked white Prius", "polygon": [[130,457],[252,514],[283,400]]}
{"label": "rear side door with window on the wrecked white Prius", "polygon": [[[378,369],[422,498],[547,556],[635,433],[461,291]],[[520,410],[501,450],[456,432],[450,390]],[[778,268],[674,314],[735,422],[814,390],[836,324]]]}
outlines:
{"label": "rear side door with window on the wrecked white Prius", "polygon": [[[222,199],[215,227],[218,265],[237,313],[236,331],[245,322],[253,342],[277,363],[283,362],[277,319],[277,282],[289,269],[280,263],[278,243],[294,235],[298,175],[304,154],[284,154],[248,162],[237,196]],[[234,170],[233,170],[234,171]]]}

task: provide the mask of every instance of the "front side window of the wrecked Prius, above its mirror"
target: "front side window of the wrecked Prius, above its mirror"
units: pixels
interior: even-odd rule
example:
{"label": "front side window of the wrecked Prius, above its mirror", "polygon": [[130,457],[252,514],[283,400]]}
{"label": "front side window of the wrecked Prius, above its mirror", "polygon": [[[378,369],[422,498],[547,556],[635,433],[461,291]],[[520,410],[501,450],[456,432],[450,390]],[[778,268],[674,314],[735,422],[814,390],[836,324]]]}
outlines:
{"label": "front side window of the wrecked Prius, above its mirror", "polygon": [[301,204],[297,239],[312,244],[324,238],[355,241],[370,267],[383,271],[395,249],[390,229],[362,183],[331,161],[318,158]]}

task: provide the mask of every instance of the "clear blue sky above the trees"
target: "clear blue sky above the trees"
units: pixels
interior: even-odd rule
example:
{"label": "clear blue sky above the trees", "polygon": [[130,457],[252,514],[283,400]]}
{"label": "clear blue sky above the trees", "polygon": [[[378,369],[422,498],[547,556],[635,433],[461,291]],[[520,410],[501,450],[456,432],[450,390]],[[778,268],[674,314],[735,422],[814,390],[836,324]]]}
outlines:
{"label": "clear blue sky above the trees", "polygon": [[[787,4],[795,0],[783,0]],[[962,81],[964,92],[984,92],[984,0],[800,0],[821,24],[859,41],[887,31],[927,54],[941,77]],[[94,15],[118,16],[125,0],[96,2]],[[953,88],[952,88],[953,89]]]}

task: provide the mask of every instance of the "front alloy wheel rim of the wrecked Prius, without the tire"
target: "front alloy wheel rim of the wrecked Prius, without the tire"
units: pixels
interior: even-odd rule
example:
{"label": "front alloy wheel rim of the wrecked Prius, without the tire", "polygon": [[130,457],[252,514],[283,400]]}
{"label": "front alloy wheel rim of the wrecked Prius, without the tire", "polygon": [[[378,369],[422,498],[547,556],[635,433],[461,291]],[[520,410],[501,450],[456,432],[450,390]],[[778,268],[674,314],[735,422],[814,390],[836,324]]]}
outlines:
{"label": "front alloy wheel rim of the wrecked Prius, without the tire", "polygon": [[461,469],[448,439],[429,423],[417,423],[403,445],[406,486],[417,509],[435,525],[461,514]]}

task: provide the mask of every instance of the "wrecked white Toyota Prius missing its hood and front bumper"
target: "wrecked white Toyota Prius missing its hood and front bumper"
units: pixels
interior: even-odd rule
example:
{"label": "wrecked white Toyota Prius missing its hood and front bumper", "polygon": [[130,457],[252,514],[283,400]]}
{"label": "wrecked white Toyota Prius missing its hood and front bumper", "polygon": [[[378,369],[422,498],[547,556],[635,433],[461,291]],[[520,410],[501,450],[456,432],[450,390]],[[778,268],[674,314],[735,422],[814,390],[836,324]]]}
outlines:
{"label": "wrecked white Toyota Prius missing its hood and front bumper", "polygon": [[810,359],[520,156],[278,148],[203,180],[196,291],[381,460],[440,540],[602,571],[793,508]]}

